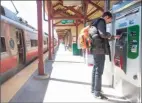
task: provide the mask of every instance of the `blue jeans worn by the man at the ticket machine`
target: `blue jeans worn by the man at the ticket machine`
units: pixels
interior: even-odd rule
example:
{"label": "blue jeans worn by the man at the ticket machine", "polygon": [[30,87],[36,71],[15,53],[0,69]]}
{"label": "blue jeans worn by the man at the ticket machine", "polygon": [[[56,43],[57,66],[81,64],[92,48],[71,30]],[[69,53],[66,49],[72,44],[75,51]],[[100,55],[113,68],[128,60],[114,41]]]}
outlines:
{"label": "blue jeans worn by the man at the ticket machine", "polygon": [[92,91],[96,96],[101,93],[102,74],[104,71],[105,54],[94,54],[94,67],[92,71]]}

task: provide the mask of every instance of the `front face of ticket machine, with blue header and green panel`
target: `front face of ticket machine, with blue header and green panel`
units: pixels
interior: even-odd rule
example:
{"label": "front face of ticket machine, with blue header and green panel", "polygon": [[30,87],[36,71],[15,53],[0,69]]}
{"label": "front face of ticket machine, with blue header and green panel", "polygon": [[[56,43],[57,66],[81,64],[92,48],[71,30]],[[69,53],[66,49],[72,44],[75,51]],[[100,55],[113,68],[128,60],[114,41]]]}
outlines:
{"label": "front face of ticket machine, with blue header and green panel", "polygon": [[127,12],[115,22],[115,34],[120,38],[115,42],[114,64],[135,85],[138,85],[138,75],[141,70],[141,35],[138,12],[140,8]]}

